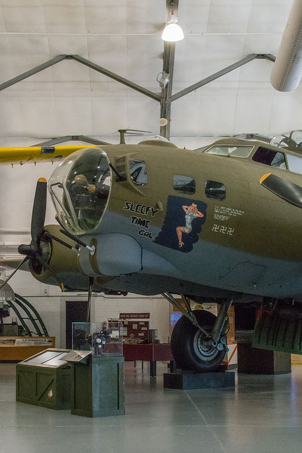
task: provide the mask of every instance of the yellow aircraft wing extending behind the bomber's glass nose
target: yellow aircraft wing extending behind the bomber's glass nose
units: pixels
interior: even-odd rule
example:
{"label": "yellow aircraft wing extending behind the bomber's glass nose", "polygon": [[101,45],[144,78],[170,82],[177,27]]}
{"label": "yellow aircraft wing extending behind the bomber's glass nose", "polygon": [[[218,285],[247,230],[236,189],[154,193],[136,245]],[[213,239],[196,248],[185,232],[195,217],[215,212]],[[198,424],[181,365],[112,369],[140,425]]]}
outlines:
{"label": "yellow aircraft wing extending behind the bomber's glass nose", "polygon": [[64,159],[78,149],[96,145],[81,146],[28,146],[0,147],[0,165],[36,164],[37,162],[55,162]]}

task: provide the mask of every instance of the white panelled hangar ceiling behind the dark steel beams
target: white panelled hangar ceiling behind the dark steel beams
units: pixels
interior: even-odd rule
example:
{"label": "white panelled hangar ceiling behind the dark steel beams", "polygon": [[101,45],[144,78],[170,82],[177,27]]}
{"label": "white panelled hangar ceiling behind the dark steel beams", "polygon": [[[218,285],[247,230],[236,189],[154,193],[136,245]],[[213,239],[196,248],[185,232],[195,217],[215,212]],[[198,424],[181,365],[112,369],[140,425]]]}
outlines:
{"label": "white panelled hangar ceiling behind the dark steel beams", "polygon": [[[179,0],[173,94],[250,54],[276,55],[292,0]],[[166,0],[0,0],[0,84],[57,55],[81,57],[160,94]],[[171,136],[301,128],[301,89],[270,85],[272,62],[253,59],[175,100]],[[159,133],[160,104],[74,59],[0,94],[1,137]]]}

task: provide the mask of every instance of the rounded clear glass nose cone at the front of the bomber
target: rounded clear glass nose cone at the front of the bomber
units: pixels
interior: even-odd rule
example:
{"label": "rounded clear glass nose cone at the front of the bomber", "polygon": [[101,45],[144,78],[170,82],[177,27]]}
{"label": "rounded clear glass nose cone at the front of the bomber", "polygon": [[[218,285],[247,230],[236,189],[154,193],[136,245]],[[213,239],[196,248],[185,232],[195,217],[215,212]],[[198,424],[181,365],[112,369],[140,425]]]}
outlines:
{"label": "rounded clear glass nose cone at the front of the bomber", "polygon": [[67,231],[79,235],[97,228],[107,207],[111,177],[109,159],[99,147],[81,149],[56,168],[48,188]]}

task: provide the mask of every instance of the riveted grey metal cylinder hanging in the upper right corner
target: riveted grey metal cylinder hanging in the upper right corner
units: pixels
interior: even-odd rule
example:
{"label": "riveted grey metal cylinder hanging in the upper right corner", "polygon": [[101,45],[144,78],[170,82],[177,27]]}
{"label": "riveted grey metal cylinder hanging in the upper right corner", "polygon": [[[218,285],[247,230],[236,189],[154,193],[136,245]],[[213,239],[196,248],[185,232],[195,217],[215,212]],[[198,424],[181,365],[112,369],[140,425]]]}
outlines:
{"label": "riveted grey metal cylinder hanging in the upper right corner", "polygon": [[297,88],[302,75],[302,2],[294,0],[270,81],[278,91]]}

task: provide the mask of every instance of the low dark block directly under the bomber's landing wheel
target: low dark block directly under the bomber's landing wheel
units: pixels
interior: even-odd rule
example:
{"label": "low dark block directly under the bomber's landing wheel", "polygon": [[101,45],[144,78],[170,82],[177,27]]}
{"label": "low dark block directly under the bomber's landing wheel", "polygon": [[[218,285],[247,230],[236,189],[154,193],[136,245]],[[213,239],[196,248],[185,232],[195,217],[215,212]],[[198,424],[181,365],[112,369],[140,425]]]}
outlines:
{"label": "low dark block directly under the bomber's landing wheel", "polygon": [[234,371],[217,371],[213,373],[195,373],[194,371],[176,370],[164,373],[165,389],[219,389],[235,387]]}

